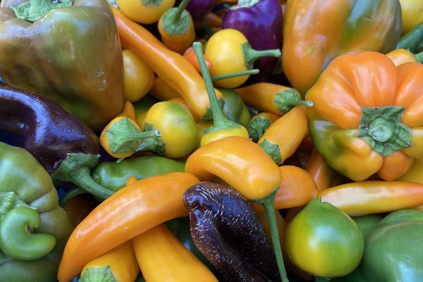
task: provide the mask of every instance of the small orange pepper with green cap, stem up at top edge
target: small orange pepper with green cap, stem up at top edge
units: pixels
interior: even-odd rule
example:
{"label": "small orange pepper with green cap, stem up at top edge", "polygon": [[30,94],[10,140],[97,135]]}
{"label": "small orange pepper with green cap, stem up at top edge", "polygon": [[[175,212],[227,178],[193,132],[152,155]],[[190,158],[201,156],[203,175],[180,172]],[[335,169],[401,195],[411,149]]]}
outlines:
{"label": "small orange pepper with green cap, stem up at top edge", "polygon": [[178,7],[170,8],[161,15],[158,23],[163,43],[179,54],[191,46],[195,39],[194,22],[185,10],[190,0],[183,0]]}

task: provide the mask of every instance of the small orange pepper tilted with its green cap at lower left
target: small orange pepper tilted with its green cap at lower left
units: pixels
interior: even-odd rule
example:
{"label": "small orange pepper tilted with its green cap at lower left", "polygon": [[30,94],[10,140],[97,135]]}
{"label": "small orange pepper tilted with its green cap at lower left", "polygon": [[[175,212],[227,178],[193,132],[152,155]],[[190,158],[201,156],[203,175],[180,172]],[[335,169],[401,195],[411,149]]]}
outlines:
{"label": "small orange pepper tilted with its green cap at lower left", "polygon": [[300,146],[306,132],[307,116],[304,107],[296,106],[274,121],[257,144],[276,164],[281,165]]}

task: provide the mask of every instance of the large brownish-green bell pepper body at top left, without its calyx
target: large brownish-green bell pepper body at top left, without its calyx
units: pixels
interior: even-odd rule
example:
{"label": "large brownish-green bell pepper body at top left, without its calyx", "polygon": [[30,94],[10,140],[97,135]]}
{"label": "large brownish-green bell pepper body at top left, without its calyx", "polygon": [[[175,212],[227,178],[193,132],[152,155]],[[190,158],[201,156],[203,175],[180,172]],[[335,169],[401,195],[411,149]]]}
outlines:
{"label": "large brownish-green bell pepper body at top left, without its calyx", "polygon": [[[123,106],[123,58],[110,5],[74,0],[34,23],[0,8],[0,76],[7,85],[48,97],[101,130]],[[13,58],[13,59],[12,59]]]}

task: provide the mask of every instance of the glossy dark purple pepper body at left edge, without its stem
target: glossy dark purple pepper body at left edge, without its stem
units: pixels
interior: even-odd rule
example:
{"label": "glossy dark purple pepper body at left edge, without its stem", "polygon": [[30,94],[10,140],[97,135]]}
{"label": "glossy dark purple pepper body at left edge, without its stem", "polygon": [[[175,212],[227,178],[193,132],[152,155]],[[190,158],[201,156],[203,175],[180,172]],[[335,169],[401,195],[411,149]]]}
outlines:
{"label": "glossy dark purple pepper body at left edge, without its stem", "polygon": [[50,99],[0,84],[0,113],[0,130],[20,137],[49,173],[68,153],[99,153],[94,132]]}

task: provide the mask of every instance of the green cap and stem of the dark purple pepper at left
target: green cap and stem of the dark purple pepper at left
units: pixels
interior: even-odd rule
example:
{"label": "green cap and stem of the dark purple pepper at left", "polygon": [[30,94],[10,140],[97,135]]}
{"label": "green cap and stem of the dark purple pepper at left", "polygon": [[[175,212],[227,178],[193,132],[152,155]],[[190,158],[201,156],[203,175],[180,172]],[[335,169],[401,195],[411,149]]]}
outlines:
{"label": "green cap and stem of the dark purple pepper at left", "polygon": [[68,153],[59,168],[51,174],[54,181],[72,182],[100,200],[113,195],[114,191],[95,182],[90,175],[90,169],[97,165],[99,155]]}

